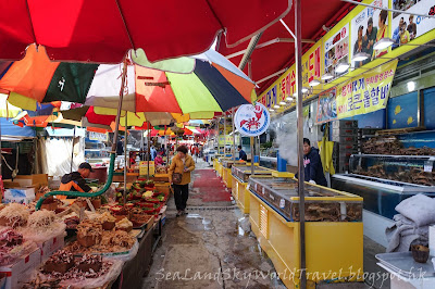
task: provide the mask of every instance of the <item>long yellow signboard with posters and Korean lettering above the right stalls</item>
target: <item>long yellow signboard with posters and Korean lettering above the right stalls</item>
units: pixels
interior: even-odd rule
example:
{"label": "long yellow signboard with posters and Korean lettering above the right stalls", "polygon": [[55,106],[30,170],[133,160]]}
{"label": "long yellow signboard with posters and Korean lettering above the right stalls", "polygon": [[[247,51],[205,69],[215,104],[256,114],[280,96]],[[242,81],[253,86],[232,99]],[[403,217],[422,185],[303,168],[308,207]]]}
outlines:
{"label": "long yellow signboard with posters and Korean lettering above the right stalls", "polygon": [[[395,50],[401,45],[409,41],[412,43],[413,39],[417,39],[417,46],[435,40],[435,33],[433,33],[435,18],[387,11],[388,8],[393,8],[417,14],[435,15],[434,0],[363,0],[362,2],[377,8],[362,5],[355,8],[302,55],[302,86],[309,88],[309,83],[313,79],[322,83],[314,87],[314,91],[309,92],[311,96],[304,95],[303,100],[331,89],[332,84],[322,81],[321,77],[325,73],[334,75],[340,63],[348,63],[351,67],[344,74],[350,73],[351,77],[358,78],[352,73],[355,70],[364,66],[369,71],[375,65],[387,63],[389,55],[391,59],[398,58],[415,48],[408,45]],[[396,41],[393,50],[391,48],[374,50],[374,45],[382,38],[391,38]],[[357,53],[361,53],[368,59],[352,61]],[[372,62],[381,56],[383,56],[382,60],[377,60],[376,63]],[[361,75],[360,78],[368,78],[364,71],[361,70],[358,73]],[[337,74],[335,76],[339,77]],[[338,79],[336,83],[344,80],[346,79]],[[274,108],[279,102],[286,101],[286,98],[293,97],[296,92],[296,64],[294,64],[259,97],[259,102],[268,109]],[[338,88],[336,93],[337,97],[340,95]],[[326,100],[326,97],[330,98],[327,95],[321,96],[323,97],[322,102],[330,102]],[[294,104],[287,103],[285,109],[291,106]],[[338,111],[337,117],[339,118]],[[324,120],[326,118],[320,117],[320,122],[324,122]]]}

